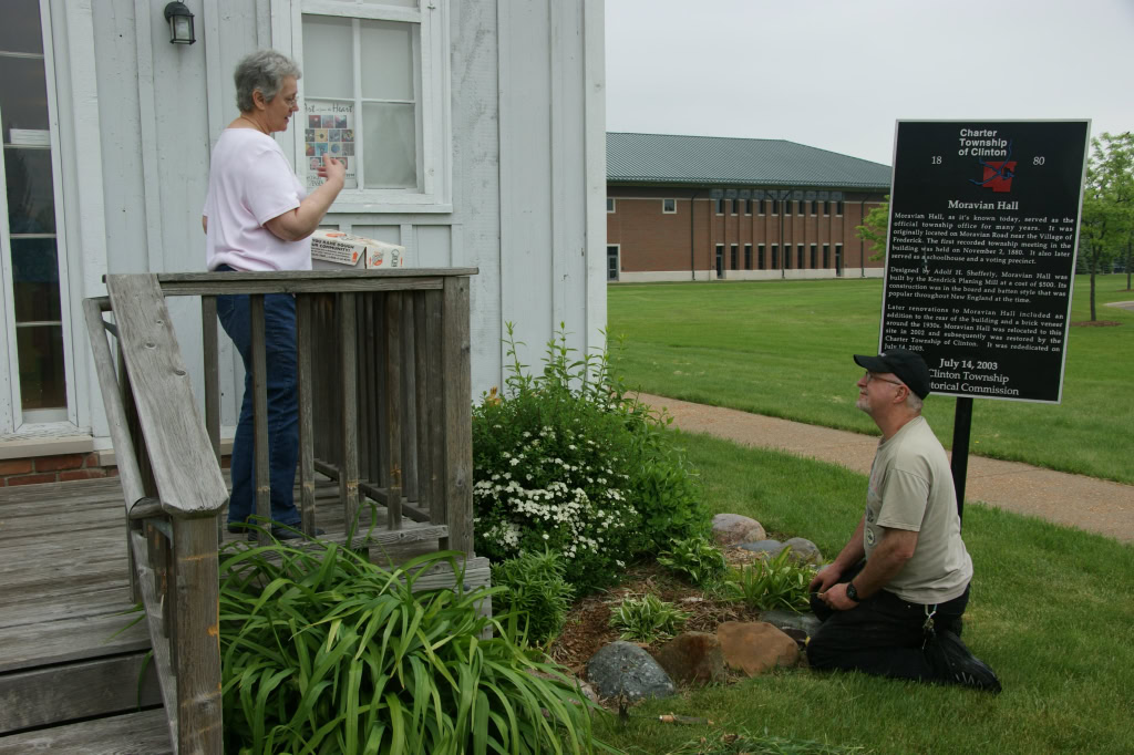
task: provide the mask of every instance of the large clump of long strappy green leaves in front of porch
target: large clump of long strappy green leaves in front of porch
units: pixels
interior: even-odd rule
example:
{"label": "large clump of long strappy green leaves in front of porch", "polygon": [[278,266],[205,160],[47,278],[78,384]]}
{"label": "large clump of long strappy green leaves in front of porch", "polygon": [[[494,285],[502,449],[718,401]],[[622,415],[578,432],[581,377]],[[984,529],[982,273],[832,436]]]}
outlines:
{"label": "large clump of long strappy green leaves in front of porch", "polygon": [[[392,570],[327,544],[221,551],[226,750],[316,755],[593,752],[587,704],[477,604],[492,589],[418,592],[456,553]],[[459,584],[459,580],[458,580]],[[497,625],[497,629],[499,626]],[[542,677],[528,673],[542,672]]]}

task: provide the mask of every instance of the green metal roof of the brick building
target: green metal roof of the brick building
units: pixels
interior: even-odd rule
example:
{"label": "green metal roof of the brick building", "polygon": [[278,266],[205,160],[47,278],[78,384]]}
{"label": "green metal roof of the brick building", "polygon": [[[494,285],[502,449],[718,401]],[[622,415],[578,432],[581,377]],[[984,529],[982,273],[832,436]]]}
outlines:
{"label": "green metal roof of the brick building", "polygon": [[784,139],[607,133],[607,180],[888,190],[890,167]]}

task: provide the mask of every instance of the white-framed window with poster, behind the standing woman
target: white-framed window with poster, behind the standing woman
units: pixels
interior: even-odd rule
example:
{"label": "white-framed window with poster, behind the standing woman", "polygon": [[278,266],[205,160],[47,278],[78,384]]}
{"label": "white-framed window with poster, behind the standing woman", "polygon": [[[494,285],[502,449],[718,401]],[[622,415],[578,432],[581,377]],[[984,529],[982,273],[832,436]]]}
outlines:
{"label": "white-framed window with poster, behind the standing woman", "polygon": [[[284,0],[271,5],[273,16],[287,16]],[[322,184],[315,170],[330,154],[347,168],[339,210],[448,205],[449,50],[441,33],[448,3],[430,11],[347,0],[296,5],[303,67],[296,164],[307,186]]]}

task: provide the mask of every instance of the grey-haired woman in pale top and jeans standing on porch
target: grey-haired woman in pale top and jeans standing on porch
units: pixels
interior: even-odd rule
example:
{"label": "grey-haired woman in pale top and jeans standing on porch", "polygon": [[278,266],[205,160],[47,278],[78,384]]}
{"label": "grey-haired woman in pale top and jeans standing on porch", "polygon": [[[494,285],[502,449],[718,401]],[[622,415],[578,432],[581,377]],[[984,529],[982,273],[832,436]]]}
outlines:
{"label": "grey-haired woman in pale top and jeans standing on porch", "polygon": [[[325,156],[324,183],[311,194],[303,188],[273,132],[287,130],[298,110],[299,67],[274,50],[260,50],[236,67],[236,104],[240,114],[217,141],[209,171],[202,224],[211,271],[311,270],[310,236],[342,190],[346,169]],[[244,359],[240,421],[232,442],[232,495],[229,532],[240,532],[255,514],[253,497],[252,350],[248,297],[217,297],[221,325]],[[272,534],[298,537],[299,512],[293,500],[299,449],[296,392],[295,298],[264,297],[268,351],[268,444]]]}

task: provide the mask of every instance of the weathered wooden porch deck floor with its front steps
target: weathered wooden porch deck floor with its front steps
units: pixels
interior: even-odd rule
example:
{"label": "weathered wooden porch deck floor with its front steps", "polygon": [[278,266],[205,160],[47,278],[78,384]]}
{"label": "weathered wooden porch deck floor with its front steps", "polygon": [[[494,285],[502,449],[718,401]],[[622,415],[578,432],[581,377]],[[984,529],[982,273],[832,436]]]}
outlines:
{"label": "weathered wooden porch deck floor with its front steps", "polygon": [[[344,542],[338,485],[318,483],[315,500],[324,540]],[[376,510],[375,561],[437,550],[446,532],[408,517],[391,532]],[[486,560],[468,567],[466,585],[488,583]],[[122,630],[138,616],[127,568],[118,480],[0,489],[0,755],[171,752],[152,664],[139,689],[146,623]]]}

